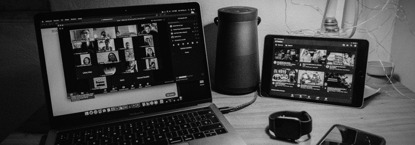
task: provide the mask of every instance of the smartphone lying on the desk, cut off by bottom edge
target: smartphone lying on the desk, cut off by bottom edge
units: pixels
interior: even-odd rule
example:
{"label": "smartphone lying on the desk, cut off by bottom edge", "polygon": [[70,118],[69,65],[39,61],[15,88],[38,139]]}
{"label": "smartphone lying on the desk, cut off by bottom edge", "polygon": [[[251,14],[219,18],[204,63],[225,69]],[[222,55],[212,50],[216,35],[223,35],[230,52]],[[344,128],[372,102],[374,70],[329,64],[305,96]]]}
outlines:
{"label": "smartphone lying on the desk, cut off by bottom edge", "polygon": [[385,145],[385,138],[348,126],[335,124],[317,145]]}

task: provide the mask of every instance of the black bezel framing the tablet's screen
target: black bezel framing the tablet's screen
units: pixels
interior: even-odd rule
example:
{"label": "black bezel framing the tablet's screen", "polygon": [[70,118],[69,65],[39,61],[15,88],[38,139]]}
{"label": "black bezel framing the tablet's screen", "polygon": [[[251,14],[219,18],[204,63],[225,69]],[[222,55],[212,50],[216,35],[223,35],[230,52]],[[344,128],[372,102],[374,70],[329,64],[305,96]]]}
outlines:
{"label": "black bezel framing the tablet's screen", "polygon": [[[271,67],[273,65],[273,41],[274,38],[281,39],[300,39],[300,40],[316,40],[316,41],[343,41],[343,42],[357,42],[359,44],[356,48],[359,56],[356,58],[356,69],[353,73],[356,78],[354,79],[353,93],[352,93],[352,103],[339,103],[331,101],[322,101],[322,100],[313,100],[313,99],[301,99],[301,98],[291,98],[278,95],[271,95],[270,84],[271,84]],[[260,95],[261,97],[273,98],[273,99],[284,99],[291,101],[303,101],[316,104],[327,104],[334,106],[344,106],[351,108],[361,108],[363,106],[363,94],[364,94],[364,84],[366,78],[366,64],[369,51],[369,42],[365,39],[340,39],[340,38],[326,38],[326,37],[311,37],[311,36],[286,36],[286,35],[267,35],[265,36],[264,41],[264,55],[263,55],[263,65],[262,65],[262,74],[261,74],[261,87]]]}

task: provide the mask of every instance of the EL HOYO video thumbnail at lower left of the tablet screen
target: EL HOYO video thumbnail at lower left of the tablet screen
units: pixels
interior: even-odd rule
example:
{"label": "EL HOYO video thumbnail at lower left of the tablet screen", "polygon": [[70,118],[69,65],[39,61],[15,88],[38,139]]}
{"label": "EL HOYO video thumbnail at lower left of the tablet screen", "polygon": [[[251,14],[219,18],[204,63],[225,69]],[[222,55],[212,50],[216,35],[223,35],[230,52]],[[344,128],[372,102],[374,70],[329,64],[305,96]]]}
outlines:
{"label": "EL HOYO video thumbnail at lower left of the tablet screen", "polygon": [[298,70],[289,68],[275,69],[272,81],[296,83],[298,78],[297,72]]}

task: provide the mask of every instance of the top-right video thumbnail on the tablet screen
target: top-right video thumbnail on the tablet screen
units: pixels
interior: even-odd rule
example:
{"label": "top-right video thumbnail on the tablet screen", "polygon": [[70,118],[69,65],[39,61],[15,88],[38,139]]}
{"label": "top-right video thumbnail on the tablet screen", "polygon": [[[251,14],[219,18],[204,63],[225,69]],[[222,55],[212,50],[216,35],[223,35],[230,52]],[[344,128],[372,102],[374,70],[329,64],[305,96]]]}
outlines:
{"label": "top-right video thumbnail on the tablet screen", "polygon": [[354,54],[348,52],[330,52],[326,61],[327,65],[354,66]]}

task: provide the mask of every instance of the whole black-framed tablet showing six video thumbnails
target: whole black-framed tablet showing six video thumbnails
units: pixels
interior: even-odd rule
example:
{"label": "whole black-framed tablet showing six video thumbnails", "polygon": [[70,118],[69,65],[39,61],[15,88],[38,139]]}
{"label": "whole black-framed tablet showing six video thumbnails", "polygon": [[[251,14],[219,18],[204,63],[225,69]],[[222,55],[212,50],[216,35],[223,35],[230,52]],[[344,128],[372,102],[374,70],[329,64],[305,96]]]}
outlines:
{"label": "whole black-framed tablet showing six video thumbnails", "polygon": [[261,96],[361,108],[369,42],[267,35]]}

